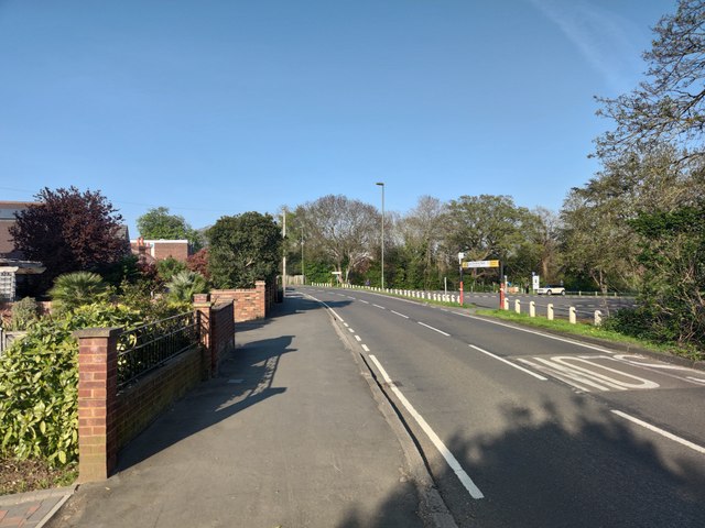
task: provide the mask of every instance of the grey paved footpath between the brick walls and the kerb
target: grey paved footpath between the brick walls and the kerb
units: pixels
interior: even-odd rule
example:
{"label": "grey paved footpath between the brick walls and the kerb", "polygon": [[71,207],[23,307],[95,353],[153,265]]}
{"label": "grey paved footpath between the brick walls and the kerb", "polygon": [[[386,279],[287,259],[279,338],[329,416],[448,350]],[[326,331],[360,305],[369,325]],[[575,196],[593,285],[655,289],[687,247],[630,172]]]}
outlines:
{"label": "grey paved footpath between the brick walls and the kerb", "polygon": [[272,318],[239,326],[236,341],[218,377],[47,526],[424,526],[417,470],[319,304],[288,297]]}

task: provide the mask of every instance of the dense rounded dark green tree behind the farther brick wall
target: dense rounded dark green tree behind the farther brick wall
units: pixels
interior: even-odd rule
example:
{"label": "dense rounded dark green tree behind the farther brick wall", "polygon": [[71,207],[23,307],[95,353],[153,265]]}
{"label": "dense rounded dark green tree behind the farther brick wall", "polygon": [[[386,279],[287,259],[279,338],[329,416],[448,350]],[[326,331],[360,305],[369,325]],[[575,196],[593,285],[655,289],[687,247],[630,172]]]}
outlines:
{"label": "dense rounded dark green tree behind the farther brick wall", "polygon": [[208,232],[208,270],[218,288],[272,282],[282,256],[282,235],[271,215],[223,217]]}

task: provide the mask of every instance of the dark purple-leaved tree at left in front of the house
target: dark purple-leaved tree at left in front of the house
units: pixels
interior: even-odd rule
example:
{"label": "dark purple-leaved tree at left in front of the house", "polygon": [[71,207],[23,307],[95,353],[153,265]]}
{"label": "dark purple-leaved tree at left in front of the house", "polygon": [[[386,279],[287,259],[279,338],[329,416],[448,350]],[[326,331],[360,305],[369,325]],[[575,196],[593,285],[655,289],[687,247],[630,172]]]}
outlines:
{"label": "dark purple-leaved tree at left in front of the house", "polygon": [[58,275],[96,271],[129,252],[119,237],[122,217],[100,191],[44,188],[35,198],[37,204],[18,215],[10,234],[26,258],[46,266],[44,287]]}

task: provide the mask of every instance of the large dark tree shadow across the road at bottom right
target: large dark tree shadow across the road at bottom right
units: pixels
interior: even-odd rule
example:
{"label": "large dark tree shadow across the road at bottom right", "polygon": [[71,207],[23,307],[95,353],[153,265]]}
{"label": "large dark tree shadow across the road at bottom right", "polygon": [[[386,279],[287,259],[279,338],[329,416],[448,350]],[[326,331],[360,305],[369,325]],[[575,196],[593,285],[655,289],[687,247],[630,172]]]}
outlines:
{"label": "large dark tree shadow across the road at bottom right", "polygon": [[[458,526],[705,526],[701,454],[677,448],[681,457],[665,459],[629,422],[588,413],[577,396],[572,404],[568,414],[550,400],[540,411],[503,407],[501,433],[468,437],[458,430],[446,442],[485,494],[468,501],[447,464],[431,464],[444,468],[436,479],[444,498],[463,505],[453,512]],[[499,497],[511,498],[492,507]]]}

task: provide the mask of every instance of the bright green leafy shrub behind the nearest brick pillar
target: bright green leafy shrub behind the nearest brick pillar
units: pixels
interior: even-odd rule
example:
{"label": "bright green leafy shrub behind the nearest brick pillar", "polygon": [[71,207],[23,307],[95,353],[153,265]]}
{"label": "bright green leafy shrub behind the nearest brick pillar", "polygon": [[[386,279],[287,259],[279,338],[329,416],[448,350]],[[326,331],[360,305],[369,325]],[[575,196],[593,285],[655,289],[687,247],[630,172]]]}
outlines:
{"label": "bright green leafy shrub behind the nearest brick pillar", "polygon": [[130,327],[142,317],[94,304],[34,323],[6,351],[0,370],[0,455],[64,465],[78,457],[78,343],[73,331]]}

